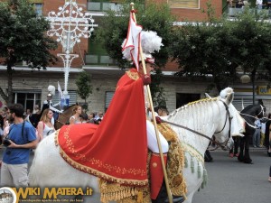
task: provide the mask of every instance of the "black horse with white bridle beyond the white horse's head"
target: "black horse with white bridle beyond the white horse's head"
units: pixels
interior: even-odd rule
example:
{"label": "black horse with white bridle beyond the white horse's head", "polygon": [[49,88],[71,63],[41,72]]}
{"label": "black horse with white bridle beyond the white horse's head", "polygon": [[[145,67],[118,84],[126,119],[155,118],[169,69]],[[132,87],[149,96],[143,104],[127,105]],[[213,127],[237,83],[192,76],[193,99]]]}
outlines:
{"label": "black horse with white bridle beyond the white horse's head", "polygon": [[257,118],[264,117],[265,107],[261,105],[249,105],[240,112],[240,115],[246,122],[246,132],[244,133],[245,136],[240,138],[240,153],[238,155],[238,161],[252,163],[249,155],[249,141],[255,132],[254,122]]}

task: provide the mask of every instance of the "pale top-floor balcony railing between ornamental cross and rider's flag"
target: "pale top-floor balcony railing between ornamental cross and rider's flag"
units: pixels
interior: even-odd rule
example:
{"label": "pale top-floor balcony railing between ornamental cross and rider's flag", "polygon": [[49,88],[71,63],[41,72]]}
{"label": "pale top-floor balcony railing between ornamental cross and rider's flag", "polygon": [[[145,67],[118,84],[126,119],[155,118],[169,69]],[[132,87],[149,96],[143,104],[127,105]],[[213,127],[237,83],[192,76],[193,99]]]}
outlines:
{"label": "pale top-floor balcony railing between ornamental cross and rider's flag", "polygon": [[106,12],[108,10],[120,11],[121,4],[111,2],[88,2],[88,11]]}

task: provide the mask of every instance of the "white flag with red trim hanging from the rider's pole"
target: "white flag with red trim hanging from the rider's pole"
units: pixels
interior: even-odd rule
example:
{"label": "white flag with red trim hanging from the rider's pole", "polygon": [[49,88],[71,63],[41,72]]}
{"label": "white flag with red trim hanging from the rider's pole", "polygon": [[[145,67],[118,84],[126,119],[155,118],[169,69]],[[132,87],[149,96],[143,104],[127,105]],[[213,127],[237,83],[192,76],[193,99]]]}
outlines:
{"label": "white flag with red trim hanging from the rider's pole", "polygon": [[[142,26],[135,23],[133,13],[130,12],[130,20],[128,26],[127,37],[124,42],[122,53],[124,56],[130,54],[132,60],[135,63],[135,67],[138,70],[139,64],[139,46],[140,46],[140,32],[142,31]],[[128,58],[126,58],[128,59]]]}

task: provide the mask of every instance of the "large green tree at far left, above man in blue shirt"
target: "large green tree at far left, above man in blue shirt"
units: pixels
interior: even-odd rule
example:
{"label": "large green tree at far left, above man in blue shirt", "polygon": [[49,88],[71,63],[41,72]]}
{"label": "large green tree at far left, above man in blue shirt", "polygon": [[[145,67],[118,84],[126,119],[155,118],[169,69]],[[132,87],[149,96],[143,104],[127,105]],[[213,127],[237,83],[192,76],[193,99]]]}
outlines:
{"label": "large green tree at far left, above man in blue shirt", "polygon": [[13,101],[14,66],[26,61],[28,67],[45,69],[56,58],[50,50],[57,43],[45,32],[50,24],[42,16],[37,16],[33,5],[27,0],[0,2],[0,58],[6,65],[7,94],[0,87],[0,95],[10,104]]}

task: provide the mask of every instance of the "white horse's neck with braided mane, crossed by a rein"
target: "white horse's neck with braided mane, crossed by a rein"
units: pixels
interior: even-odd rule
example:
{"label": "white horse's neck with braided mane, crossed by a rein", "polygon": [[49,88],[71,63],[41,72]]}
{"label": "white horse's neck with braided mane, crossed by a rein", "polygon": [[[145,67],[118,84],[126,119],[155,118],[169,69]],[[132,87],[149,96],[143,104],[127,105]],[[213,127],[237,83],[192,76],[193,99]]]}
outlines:
{"label": "white horse's neck with braided mane, crossed by a rein", "polygon": [[[195,105],[183,106],[177,109],[173,115],[170,115],[168,120],[177,125],[183,125],[200,134],[204,134],[209,138],[215,133],[218,126],[218,116],[220,116],[220,109],[217,107],[215,101],[202,102]],[[215,107],[216,106],[216,107]],[[210,140],[192,133],[182,127],[172,126],[173,130],[178,134],[181,143],[187,144],[197,151],[204,154]]]}

